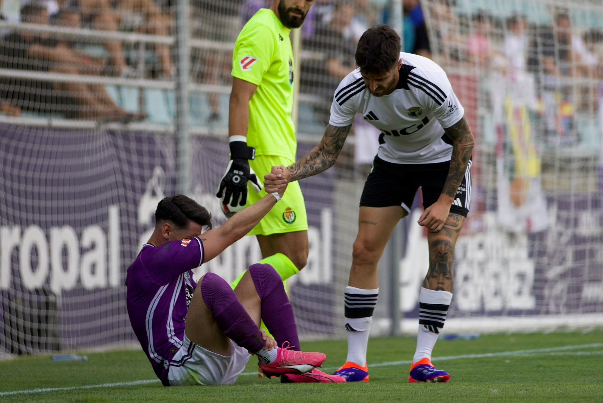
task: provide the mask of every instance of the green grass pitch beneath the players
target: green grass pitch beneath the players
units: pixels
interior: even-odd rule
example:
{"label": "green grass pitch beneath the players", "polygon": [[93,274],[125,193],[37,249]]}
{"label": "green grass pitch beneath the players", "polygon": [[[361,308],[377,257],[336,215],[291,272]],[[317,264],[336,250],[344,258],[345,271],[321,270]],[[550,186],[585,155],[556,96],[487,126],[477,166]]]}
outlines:
{"label": "green grass pitch beneath the players", "polygon": [[[346,358],[345,340],[307,341],[302,347],[325,352],[327,372]],[[371,380],[350,384],[280,384],[278,379],[258,378],[254,357],[234,386],[204,387],[162,387],[142,351],[80,353],[87,361],[19,357],[0,361],[0,403],[603,402],[601,330],[442,339],[433,362],[452,376],[447,384],[408,383],[414,347],[412,338],[371,338]],[[136,381],[149,382],[132,384]],[[120,382],[124,384],[116,385]],[[10,393],[14,391],[27,393]]]}

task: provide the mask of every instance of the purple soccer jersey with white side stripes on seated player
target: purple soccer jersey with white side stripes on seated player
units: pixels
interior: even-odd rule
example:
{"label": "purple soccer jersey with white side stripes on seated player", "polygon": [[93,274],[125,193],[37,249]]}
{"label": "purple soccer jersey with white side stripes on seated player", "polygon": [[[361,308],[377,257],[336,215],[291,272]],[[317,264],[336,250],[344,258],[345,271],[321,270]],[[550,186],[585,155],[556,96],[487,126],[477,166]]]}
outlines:
{"label": "purple soccer jersey with white side stripes on seated player", "polygon": [[192,269],[203,262],[197,237],[154,247],[146,244],[128,267],[127,307],[134,334],[156,375],[169,386],[172,358],[182,347],[186,314],[197,283]]}

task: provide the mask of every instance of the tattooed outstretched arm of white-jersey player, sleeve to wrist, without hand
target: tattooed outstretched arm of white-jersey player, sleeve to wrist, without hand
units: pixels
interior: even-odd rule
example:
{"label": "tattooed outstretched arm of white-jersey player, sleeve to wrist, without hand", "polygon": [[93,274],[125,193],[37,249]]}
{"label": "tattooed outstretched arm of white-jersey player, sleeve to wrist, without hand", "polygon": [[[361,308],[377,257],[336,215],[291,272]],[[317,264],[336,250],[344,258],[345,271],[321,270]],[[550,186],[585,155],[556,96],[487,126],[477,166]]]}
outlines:
{"label": "tattooed outstretched arm of white-jersey player, sleeve to wrist, without hand", "polygon": [[346,127],[327,125],[320,143],[287,168],[291,172],[291,180],[316,175],[332,167],[351,128],[351,124]]}

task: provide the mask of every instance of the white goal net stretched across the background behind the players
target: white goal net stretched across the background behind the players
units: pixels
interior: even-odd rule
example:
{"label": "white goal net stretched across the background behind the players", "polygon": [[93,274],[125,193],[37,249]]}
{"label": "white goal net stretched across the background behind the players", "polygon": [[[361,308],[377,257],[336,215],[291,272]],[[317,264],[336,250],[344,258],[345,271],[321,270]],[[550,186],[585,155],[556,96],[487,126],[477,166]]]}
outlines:
{"label": "white goal net stretched across the background behind the players", "polygon": [[[188,195],[213,212],[214,226],[226,220],[215,189],[229,152],[232,49],[268,2],[191,0],[184,47],[174,45],[174,2],[142,1],[130,13],[134,2],[121,0],[122,16],[105,21],[112,13],[94,8],[103,2],[80,1],[90,8],[77,10],[79,22],[51,1],[17,3],[4,0],[0,10],[0,355],[135,345],[125,274],[152,232],[157,202],[182,189],[183,139]],[[472,211],[456,246],[444,331],[603,325],[603,5],[560,6],[421,1],[431,55],[476,138]],[[297,31],[298,156],[321,138],[333,91],[354,67],[355,41],[392,15],[387,1],[312,6]],[[190,66],[185,104],[178,60]],[[378,136],[358,116],[335,166],[301,181],[310,252],[288,289],[302,338],[345,334],[358,201]],[[402,259],[385,253],[379,262],[375,335],[400,318],[402,331],[416,329],[428,268],[419,206],[390,246]],[[260,258],[256,239],[245,237],[197,278],[212,271],[232,281]]]}

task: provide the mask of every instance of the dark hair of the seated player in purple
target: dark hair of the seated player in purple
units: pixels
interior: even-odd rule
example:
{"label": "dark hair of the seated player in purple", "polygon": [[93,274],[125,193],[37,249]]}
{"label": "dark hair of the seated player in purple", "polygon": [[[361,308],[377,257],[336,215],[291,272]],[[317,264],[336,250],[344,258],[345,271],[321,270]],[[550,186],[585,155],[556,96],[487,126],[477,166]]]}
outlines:
{"label": "dark hair of the seated player in purple", "polygon": [[189,221],[194,221],[203,227],[207,227],[207,229],[211,229],[212,214],[192,198],[177,194],[163,198],[157,205],[155,223],[157,224],[160,221],[172,221],[180,229],[188,227]]}

